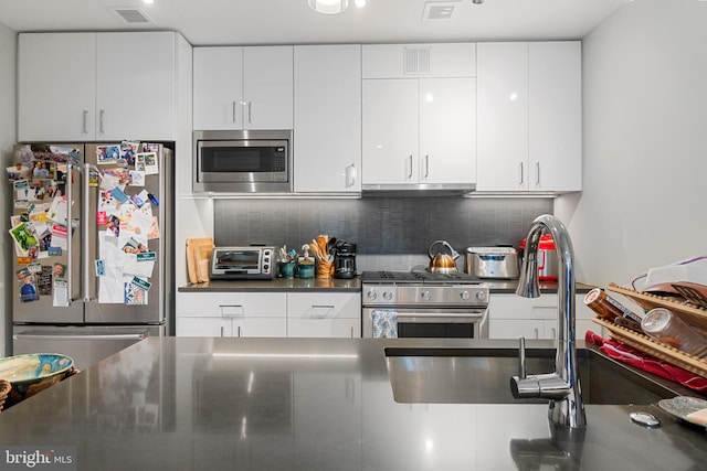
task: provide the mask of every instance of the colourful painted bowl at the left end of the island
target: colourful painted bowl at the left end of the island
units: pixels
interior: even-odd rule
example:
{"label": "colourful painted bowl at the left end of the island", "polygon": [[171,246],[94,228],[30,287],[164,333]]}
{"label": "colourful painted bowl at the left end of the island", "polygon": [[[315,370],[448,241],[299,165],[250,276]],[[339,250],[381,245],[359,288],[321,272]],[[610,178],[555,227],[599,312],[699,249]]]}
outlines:
{"label": "colourful painted bowl at the left end of the island", "polygon": [[72,357],[57,353],[0,358],[0,378],[12,385],[7,405],[17,404],[59,383],[71,374],[73,366]]}

